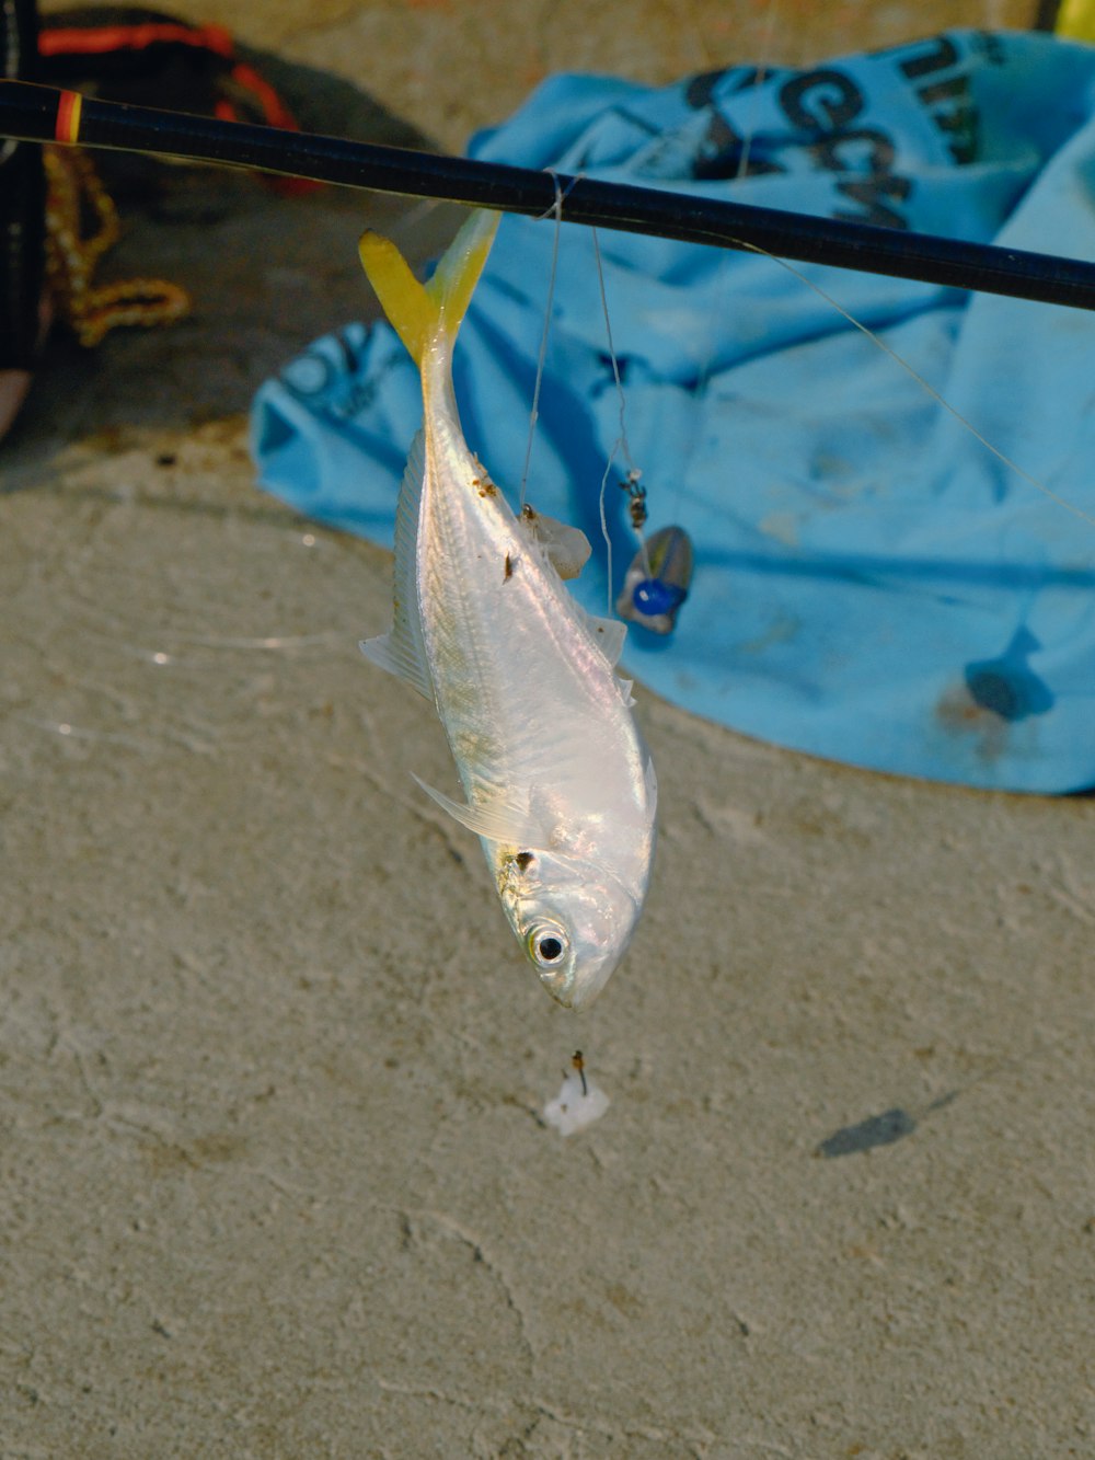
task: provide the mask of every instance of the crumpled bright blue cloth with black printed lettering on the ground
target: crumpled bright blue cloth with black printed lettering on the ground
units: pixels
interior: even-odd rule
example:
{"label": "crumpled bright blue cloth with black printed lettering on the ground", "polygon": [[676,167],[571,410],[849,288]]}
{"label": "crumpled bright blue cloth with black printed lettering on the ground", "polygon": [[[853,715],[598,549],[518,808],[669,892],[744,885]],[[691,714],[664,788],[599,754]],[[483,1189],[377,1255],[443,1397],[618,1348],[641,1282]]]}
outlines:
{"label": "crumpled bright blue cloth with black printed lettering on the ground", "polygon": [[[731,67],[653,89],[545,83],[473,156],[1095,258],[1095,51],[952,32],[813,70]],[[1095,320],[905,280],[602,232],[631,456],[650,526],[695,577],[672,638],[625,664],[736,730],[882,771],[1025,791],[1095,784]],[[507,218],[460,334],[464,434],[515,489],[555,225]],[[365,288],[365,285],[362,285]],[[263,485],[391,542],[420,420],[384,324],[346,326],[254,406]],[[588,229],[564,225],[529,498],[577,523],[594,612],[635,550]]]}

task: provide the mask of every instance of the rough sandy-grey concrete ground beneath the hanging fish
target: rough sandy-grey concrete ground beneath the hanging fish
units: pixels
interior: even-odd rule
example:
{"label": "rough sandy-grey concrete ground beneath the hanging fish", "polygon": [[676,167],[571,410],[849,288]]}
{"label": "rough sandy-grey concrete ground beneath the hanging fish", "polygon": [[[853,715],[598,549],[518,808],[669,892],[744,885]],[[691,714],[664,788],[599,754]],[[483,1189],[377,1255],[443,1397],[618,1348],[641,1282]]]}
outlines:
{"label": "rough sandy-grey concrete ground beneath the hanging fish", "polygon": [[[816,9],[796,53],[1032,7]],[[765,6],[542,4],[493,22],[485,95],[492,13],[218,18],[456,146],[533,61],[756,60],[729,18]],[[390,561],[245,453],[254,384],[368,311],[353,241],[393,209],[166,203],[121,263],[196,317],[54,345],[0,450],[0,1457],[1095,1456],[1095,803],[841,769],[639,686],[648,914],[555,1009],[410,780],[448,784],[438,726],[356,653]],[[612,1105],[565,1140],[577,1045]]]}

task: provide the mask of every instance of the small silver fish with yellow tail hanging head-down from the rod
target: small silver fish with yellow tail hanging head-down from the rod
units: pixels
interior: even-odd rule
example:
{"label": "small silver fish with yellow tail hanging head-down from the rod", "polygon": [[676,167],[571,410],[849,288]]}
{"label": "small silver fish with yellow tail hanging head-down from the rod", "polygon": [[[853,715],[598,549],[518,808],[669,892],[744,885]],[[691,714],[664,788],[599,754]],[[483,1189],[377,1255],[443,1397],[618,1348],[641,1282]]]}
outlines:
{"label": "small silver fish with yellow tail hanging head-down from the rod", "polygon": [[588,556],[584,534],[515,515],[460,428],[453,346],[496,226],[472,213],[425,286],[388,239],[361,239],[425,407],[396,514],[394,623],[361,647],[437,705],[467,800],[419,785],[479,835],[540,981],[580,1009],[638,923],[657,781],[615,672],[626,629],[559,575]]}

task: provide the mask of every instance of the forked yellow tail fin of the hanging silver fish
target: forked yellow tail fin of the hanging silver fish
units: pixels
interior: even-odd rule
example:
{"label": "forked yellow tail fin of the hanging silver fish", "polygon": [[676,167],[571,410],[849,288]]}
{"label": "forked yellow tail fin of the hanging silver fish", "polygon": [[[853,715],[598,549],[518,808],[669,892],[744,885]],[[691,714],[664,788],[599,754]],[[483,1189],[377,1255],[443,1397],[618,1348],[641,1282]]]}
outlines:
{"label": "forked yellow tail fin of the hanging silver fish", "polygon": [[499,216],[476,209],[445,250],[428,285],[418,282],[388,238],[362,234],[358,245],[362,267],[416,365],[422,365],[426,349],[439,336],[450,347],[456,340],[491,253]]}

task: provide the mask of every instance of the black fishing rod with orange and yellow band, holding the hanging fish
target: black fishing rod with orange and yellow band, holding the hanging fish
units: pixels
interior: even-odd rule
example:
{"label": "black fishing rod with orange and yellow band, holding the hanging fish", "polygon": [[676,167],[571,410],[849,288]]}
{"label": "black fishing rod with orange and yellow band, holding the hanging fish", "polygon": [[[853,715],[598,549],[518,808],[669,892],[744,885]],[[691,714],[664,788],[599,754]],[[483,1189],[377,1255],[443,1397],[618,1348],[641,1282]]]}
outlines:
{"label": "black fishing rod with orange and yellow band, holding the hanging fish", "polygon": [[213,162],[530,218],[558,210],[568,223],[1095,310],[1095,264],[1079,258],[131,107],[32,82],[0,80],[0,137]]}

